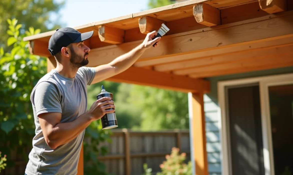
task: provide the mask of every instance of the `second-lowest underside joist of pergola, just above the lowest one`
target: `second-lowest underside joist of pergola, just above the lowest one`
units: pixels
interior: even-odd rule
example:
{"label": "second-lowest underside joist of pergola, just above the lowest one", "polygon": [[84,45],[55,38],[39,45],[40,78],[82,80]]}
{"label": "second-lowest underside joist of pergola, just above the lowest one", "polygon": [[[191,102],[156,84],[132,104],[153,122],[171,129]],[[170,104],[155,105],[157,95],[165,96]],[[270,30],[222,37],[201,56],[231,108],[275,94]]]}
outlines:
{"label": "second-lowest underside joist of pergola, just above the lowest one", "polygon": [[[182,71],[187,71],[189,70],[187,68],[216,65],[216,64],[232,62],[232,61],[236,62],[236,61],[242,61],[243,59],[247,60],[251,58],[268,57],[272,55],[292,52],[292,50],[293,50],[293,41],[292,43],[286,44],[285,46],[281,45],[277,47],[271,46],[266,48],[250,49],[250,50],[245,50],[242,52],[229,53],[229,54],[224,54],[219,56],[214,55],[214,56],[192,59],[188,61],[162,64],[162,65],[155,66],[154,70],[164,72],[164,71],[174,71],[174,70],[184,69]],[[174,73],[176,74],[177,72],[174,72]]]}

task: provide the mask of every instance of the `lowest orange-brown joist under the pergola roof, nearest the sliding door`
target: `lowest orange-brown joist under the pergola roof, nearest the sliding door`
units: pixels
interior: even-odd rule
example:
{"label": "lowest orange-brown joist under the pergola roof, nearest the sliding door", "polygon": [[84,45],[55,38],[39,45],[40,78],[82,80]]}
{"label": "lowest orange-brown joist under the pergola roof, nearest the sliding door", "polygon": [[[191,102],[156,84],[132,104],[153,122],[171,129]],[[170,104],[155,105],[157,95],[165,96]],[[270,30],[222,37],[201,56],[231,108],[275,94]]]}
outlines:
{"label": "lowest orange-brown joist under the pergola roof, nearest the sliding door", "polygon": [[[257,62],[243,62],[243,63],[230,63],[224,66],[224,69],[221,70],[209,70],[209,71],[201,71],[189,74],[188,76],[191,78],[205,78],[205,77],[213,77],[213,76],[223,76],[235,73],[245,73],[251,71],[261,71],[265,69],[273,69],[273,68],[283,68],[288,66],[293,66],[293,53],[287,55],[275,56],[274,58],[264,59],[262,61]],[[231,67],[232,66],[232,67]],[[227,68],[228,67],[228,68]],[[226,69],[225,69],[226,68]]]}

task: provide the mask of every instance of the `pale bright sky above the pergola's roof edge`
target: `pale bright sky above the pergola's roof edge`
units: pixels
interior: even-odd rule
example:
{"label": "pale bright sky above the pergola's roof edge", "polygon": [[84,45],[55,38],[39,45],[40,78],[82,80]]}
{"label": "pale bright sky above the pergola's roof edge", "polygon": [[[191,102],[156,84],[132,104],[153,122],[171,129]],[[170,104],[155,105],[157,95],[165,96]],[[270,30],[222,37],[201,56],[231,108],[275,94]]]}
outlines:
{"label": "pale bright sky above the pergola's roof edge", "polygon": [[[59,11],[59,20],[66,27],[76,27],[147,10],[147,3],[148,0],[66,0]],[[51,15],[51,18],[56,19],[56,16]]]}

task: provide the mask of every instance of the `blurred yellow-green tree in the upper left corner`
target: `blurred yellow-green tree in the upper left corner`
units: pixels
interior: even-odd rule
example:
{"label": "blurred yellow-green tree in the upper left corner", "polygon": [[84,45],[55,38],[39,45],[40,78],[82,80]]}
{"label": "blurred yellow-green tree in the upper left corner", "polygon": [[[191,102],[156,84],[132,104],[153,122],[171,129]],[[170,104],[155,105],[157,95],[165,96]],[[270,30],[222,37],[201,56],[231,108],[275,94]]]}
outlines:
{"label": "blurred yellow-green tree in the upper left corner", "polygon": [[[19,32],[24,34],[29,27],[38,28],[42,32],[59,28],[61,23],[49,19],[50,14],[58,14],[64,2],[53,0],[1,0],[0,1],[0,47],[4,47],[8,38],[6,31],[9,29],[7,19],[16,18],[22,24]],[[57,18],[58,19],[58,18]],[[11,49],[11,48],[9,48]]]}

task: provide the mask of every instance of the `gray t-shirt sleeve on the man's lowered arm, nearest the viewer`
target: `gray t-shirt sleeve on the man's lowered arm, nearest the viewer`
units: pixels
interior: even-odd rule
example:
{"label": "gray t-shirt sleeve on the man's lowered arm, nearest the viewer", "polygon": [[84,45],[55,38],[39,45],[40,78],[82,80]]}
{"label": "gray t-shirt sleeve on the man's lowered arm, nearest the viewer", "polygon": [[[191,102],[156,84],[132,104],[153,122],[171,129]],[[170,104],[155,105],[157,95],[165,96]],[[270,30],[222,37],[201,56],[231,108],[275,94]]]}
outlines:
{"label": "gray t-shirt sleeve on the man's lowered arm, nearest the viewer", "polygon": [[34,89],[32,100],[37,116],[46,112],[62,113],[61,99],[57,87],[53,83],[39,83]]}

